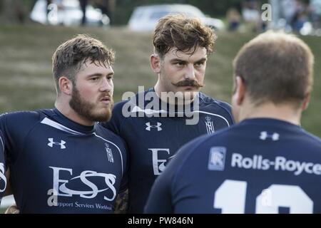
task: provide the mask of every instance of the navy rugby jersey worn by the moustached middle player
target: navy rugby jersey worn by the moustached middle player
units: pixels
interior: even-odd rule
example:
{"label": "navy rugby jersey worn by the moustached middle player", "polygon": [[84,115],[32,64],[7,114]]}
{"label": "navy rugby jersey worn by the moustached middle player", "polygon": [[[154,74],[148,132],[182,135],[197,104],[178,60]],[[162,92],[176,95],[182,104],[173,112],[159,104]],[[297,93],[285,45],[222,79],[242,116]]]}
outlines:
{"label": "navy rugby jersey worn by the moustached middle player", "polygon": [[[141,95],[146,96],[146,93],[154,95],[159,105],[151,105],[153,99],[145,99],[141,103]],[[129,212],[143,213],[154,180],[163,172],[179,147],[200,135],[214,133],[233,124],[230,105],[227,103],[203,93],[199,93],[195,99],[199,101],[199,108],[195,109],[191,105],[190,109],[181,111],[174,107],[174,110],[162,103],[151,88],[130,100],[117,103],[111,121],[103,123],[128,145],[131,157],[128,172]],[[128,113],[125,113],[124,116],[124,111],[131,115],[126,117]],[[187,120],[193,119],[190,113],[198,115],[197,124],[186,124]]]}

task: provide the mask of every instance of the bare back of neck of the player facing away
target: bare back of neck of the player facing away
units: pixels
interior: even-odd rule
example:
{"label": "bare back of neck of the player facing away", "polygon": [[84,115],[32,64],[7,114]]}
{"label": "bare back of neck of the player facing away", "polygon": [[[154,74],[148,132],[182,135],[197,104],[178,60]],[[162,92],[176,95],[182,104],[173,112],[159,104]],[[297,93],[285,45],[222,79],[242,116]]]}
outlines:
{"label": "bare back of neck of the player facing away", "polygon": [[275,105],[265,103],[259,106],[245,107],[241,112],[240,120],[249,118],[273,118],[300,125],[301,111],[294,110],[291,105]]}

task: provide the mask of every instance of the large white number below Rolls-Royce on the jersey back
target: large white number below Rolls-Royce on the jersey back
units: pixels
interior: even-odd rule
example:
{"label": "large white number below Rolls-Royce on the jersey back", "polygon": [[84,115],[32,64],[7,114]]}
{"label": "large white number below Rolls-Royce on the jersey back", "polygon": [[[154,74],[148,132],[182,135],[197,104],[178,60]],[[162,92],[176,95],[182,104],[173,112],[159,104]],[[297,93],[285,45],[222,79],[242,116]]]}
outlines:
{"label": "large white number below Rolls-Royce on the jersey back", "polygon": [[[214,208],[223,214],[245,213],[247,186],[245,181],[225,180],[215,192]],[[288,207],[293,214],[313,212],[312,200],[296,185],[270,185],[256,197],[255,213],[278,213],[279,207]]]}

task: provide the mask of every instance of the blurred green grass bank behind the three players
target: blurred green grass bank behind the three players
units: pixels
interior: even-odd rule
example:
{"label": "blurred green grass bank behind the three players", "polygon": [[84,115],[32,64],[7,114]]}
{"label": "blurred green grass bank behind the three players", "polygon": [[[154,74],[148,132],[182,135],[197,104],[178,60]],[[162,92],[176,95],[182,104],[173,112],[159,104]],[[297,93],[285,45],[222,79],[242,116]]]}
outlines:
{"label": "blurred green grass bank behind the three players", "polygon": [[[101,39],[116,51],[115,100],[138,86],[156,83],[149,66],[151,33],[126,28],[66,28],[59,26],[0,26],[0,113],[52,108],[56,96],[51,56],[57,46],[78,33]],[[255,33],[218,33],[215,53],[210,56],[203,92],[230,103],[232,60],[240,46]],[[302,126],[321,137],[321,38],[302,37],[315,53],[315,86]]]}

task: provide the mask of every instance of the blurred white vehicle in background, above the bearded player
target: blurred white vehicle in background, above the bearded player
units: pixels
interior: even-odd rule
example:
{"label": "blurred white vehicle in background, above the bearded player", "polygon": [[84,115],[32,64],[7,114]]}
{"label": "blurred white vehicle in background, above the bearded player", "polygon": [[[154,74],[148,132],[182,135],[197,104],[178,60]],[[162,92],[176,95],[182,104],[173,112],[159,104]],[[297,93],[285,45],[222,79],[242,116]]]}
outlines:
{"label": "blurred white vehicle in background, above the bearded player", "polygon": [[[30,18],[41,24],[63,24],[65,26],[77,26],[81,24],[83,12],[78,0],[60,0],[54,1],[48,6],[47,15],[46,0],[38,0],[32,9]],[[101,13],[100,9],[94,9],[93,6],[86,7],[86,24],[88,26],[108,26],[110,19]]]}

